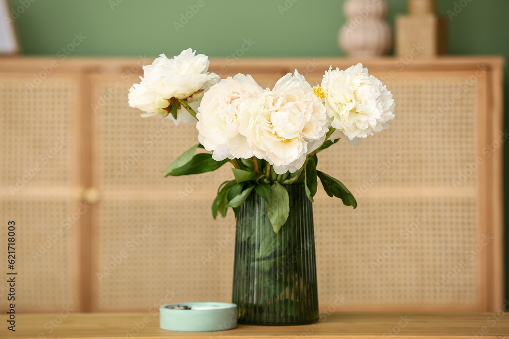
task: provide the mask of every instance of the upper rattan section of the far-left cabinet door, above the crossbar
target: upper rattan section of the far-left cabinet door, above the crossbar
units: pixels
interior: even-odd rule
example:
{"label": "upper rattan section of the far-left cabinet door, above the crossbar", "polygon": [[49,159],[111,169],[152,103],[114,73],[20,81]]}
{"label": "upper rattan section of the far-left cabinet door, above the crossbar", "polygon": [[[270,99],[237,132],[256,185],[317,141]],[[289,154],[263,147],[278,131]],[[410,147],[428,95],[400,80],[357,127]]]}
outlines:
{"label": "upper rattan section of the far-left cabinet door, above the crossbar", "polygon": [[32,172],[36,165],[40,169],[29,182],[21,182],[23,188],[69,187],[76,179],[76,164],[71,161],[78,84],[73,77],[59,75],[35,87],[32,81],[32,74],[0,74],[2,188],[16,186],[25,170]]}

